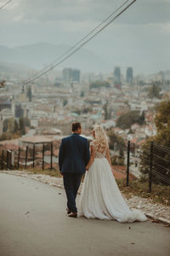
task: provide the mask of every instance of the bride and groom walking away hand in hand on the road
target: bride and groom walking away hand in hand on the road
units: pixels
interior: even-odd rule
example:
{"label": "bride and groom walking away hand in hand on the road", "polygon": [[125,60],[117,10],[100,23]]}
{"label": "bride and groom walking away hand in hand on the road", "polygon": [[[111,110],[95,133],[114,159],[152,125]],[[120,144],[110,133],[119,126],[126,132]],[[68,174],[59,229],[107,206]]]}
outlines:
{"label": "bride and groom walking away hand in hand on the road", "polygon": [[77,190],[82,174],[86,172],[78,207],[79,216],[115,219],[122,223],[145,221],[147,218],[143,212],[129,209],[116,184],[103,127],[95,126],[90,152],[88,140],[81,137],[81,133],[81,123],[73,123],[72,135],[63,138],[59,148],[59,170],[64,180],[68,216],[77,218]]}

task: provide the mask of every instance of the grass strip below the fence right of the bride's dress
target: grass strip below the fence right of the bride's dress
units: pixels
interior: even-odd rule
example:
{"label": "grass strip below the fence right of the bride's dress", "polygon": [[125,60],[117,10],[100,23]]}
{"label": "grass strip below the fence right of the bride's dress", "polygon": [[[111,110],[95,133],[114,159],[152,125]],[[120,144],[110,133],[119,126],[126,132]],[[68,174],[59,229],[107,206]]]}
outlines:
{"label": "grass strip below the fence right of the bride's dress", "polygon": [[127,198],[131,198],[132,195],[138,195],[144,198],[150,198],[154,203],[170,206],[170,186],[153,183],[152,192],[149,193],[148,183],[141,182],[139,179],[130,181],[128,187],[124,179],[117,179],[116,183]]}

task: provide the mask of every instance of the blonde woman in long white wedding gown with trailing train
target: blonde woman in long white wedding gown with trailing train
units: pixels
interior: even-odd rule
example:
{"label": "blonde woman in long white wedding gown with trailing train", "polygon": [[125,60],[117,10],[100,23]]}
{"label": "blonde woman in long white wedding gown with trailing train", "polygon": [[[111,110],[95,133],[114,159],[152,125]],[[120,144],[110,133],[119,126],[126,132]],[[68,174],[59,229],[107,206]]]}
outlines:
{"label": "blonde woman in long white wedding gown with trailing train", "polygon": [[116,219],[122,223],[145,221],[143,212],[130,210],[112,173],[108,139],[101,125],[93,131],[91,156],[82,184],[79,215],[86,218]]}

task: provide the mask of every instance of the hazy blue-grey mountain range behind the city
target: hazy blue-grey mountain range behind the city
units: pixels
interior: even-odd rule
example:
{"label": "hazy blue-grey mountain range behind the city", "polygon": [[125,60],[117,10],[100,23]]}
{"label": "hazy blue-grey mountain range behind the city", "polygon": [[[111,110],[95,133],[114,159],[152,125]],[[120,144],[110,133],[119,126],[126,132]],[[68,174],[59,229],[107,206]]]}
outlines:
{"label": "hazy blue-grey mountain range behind the city", "polygon": [[[26,44],[14,48],[0,45],[0,62],[16,63],[31,69],[41,69],[70,48],[70,45],[48,43]],[[59,65],[59,69],[63,67],[79,68],[83,72],[108,72],[111,70],[111,67],[102,58],[88,49],[77,51],[76,54]]]}

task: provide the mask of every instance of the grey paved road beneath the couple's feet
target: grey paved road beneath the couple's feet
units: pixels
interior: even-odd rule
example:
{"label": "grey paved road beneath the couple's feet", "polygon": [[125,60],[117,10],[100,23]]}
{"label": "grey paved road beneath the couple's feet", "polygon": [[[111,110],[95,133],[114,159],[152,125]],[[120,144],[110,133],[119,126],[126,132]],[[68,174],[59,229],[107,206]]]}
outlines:
{"label": "grey paved road beneath the couple's feet", "polygon": [[64,190],[0,173],[0,256],[56,255],[170,255],[170,229],[68,218]]}

